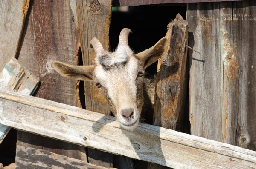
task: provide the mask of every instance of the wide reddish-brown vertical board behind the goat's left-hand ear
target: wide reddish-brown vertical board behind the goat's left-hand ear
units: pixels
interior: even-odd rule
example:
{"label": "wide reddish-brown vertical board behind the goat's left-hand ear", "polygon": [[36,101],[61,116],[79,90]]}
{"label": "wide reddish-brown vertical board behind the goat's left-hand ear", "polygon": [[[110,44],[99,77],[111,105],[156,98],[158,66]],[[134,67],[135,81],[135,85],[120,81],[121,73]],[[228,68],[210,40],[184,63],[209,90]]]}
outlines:
{"label": "wide reddish-brown vertical board behind the goat's left-hand ear", "polygon": [[[53,60],[76,65],[78,49],[79,37],[70,0],[33,0],[17,57],[41,80],[36,97],[81,107],[77,82],[61,77],[52,67]],[[84,147],[26,132],[18,132],[18,145],[87,160]]]}

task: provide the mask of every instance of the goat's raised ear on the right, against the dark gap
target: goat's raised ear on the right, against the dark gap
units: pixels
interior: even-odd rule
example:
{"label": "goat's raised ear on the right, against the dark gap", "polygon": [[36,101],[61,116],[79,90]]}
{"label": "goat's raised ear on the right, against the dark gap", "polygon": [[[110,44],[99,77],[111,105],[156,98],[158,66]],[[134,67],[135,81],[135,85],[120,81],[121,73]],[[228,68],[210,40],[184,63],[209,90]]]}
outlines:
{"label": "goat's raised ear on the right, against the dark gap", "polygon": [[163,54],[166,54],[168,45],[167,38],[163,37],[154,46],[135,54],[135,56],[143,63],[143,68],[145,70],[149,65],[156,62]]}

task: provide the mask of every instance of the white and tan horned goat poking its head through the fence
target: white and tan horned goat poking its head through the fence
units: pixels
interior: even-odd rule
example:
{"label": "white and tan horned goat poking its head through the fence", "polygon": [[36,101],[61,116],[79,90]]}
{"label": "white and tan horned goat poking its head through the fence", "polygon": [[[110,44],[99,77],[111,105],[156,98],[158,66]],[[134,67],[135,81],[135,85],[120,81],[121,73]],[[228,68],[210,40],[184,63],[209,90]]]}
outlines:
{"label": "white and tan horned goat poking its head through the fence", "polygon": [[90,44],[96,53],[95,65],[73,66],[58,61],[54,69],[64,77],[93,81],[105,96],[111,111],[123,129],[133,130],[139,123],[146,94],[154,102],[155,78],[147,78],[145,69],[167,52],[168,40],[160,39],[154,46],[134,54],[128,45],[131,30],[122,29],[114,52],[108,52],[94,37]]}

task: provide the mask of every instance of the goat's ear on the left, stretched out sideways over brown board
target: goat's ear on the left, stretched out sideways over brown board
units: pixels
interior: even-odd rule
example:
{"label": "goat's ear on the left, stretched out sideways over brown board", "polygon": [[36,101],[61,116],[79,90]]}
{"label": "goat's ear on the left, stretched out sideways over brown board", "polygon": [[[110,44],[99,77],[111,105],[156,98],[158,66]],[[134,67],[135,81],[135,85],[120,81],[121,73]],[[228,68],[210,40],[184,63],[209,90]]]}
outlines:
{"label": "goat's ear on the left, stretched out sideways over brown board", "polygon": [[94,66],[74,66],[54,61],[54,69],[64,77],[76,80],[93,81]]}

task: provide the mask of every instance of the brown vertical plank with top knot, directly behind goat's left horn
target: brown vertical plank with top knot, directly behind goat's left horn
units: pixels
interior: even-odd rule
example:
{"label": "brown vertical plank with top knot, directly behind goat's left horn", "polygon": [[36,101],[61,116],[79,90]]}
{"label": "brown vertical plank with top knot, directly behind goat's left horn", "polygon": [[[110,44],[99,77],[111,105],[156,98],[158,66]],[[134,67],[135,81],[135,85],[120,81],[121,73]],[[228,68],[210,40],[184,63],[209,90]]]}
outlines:
{"label": "brown vertical plank with top knot, directly behind goat's left horn", "polygon": [[[112,0],[76,0],[76,14],[84,65],[93,65],[95,52],[90,40],[97,37],[105,49],[109,49],[109,26]],[[87,110],[110,115],[104,96],[91,82],[84,82]],[[88,161],[97,166],[113,167],[113,155],[88,149]]]}

